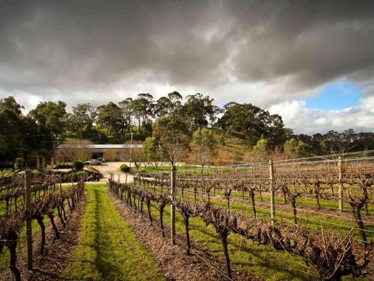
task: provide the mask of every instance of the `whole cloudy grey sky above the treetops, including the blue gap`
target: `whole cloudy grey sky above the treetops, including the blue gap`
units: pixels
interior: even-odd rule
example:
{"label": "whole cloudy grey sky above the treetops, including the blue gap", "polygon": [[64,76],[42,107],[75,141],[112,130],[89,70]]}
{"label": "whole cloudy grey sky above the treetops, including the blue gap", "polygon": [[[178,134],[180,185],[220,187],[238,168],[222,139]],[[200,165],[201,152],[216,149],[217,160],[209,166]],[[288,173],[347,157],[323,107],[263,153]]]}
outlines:
{"label": "whole cloudy grey sky above the treetops, including the blue gap", "polygon": [[374,1],[0,1],[0,97],[26,111],[172,91],[374,132]]}

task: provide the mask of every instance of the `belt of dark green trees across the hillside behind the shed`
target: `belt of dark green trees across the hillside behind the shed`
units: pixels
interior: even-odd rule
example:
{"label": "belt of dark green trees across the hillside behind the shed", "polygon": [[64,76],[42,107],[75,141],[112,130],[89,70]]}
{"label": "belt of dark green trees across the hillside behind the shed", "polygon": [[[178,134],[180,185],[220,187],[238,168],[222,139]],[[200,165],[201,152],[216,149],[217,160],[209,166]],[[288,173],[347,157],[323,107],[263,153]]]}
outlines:
{"label": "belt of dark green trees across the hillside behind the shed", "polygon": [[[221,150],[230,146],[226,140],[231,137],[242,139],[248,152],[254,149],[258,154],[272,148],[287,158],[374,149],[373,132],[355,132],[348,128],[313,136],[295,135],[284,126],[281,116],[253,104],[228,102],[219,108],[213,101],[200,93],[183,98],[173,91],[157,101],[149,93],[140,93],[136,99],[125,97],[118,103],[76,104],[70,113],[66,112],[64,101],[43,101],[24,115],[22,105],[11,96],[5,97],[0,99],[1,161],[12,162],[17,157],[26,160],[35,155],[51,157],[54,144],[62,143],[64,139],[124,143],[133,133],[134,141],[151,137],[145,145],[150,142],[152,149],[157,143],[159,149],[149,151],[149,154],[157,154],[152,156],[153,162],[182,161],[191,149],[194,156],[189,158],[204,166],[211,161],[211,155],[202,154],[211,152],[210,146],[203,146],[209,142],[206,140],[209,137],[207,127],[224,131],[216,133],[216,136],[221,134],[221,138],[218,137]],[[260,149],[265,141],[267,148]],[[218,144],[213,146],[218,151]],[[146,158],[151,161],[150,155]],[[236,158],[234,153],[230,161],[235,162]]]}

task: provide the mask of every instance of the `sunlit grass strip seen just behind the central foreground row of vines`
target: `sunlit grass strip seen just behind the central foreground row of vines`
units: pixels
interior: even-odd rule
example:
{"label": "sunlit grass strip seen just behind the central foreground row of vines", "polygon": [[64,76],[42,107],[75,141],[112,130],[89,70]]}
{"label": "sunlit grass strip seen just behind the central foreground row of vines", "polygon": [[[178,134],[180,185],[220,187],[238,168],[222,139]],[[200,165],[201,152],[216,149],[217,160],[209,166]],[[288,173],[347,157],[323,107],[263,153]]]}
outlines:
{"label": "sunlit grass strip seen just behind the central foreground row of vines", "polygon": [[[159,220],[159,211],[156,204],[151,205],[153,220]],[[186,237],[183,217],[175,212],[176,233]],[[164,211],[164,224],[169,225],[170,208],[167,206]],[[206,226],[200,218],[190,218],[189,234],[191,239],[210,254],[220,257],[224,262],[224,251],[222,242],[212,225]],[[161,233],[160,233],[161,235]],[[301,259],[296,256],[289,256],[283,251],[277,251],[271,246],[258,245],[256,242],[245,239],[243,236],[231,233],[228,236],[228,248],[231,267],[240,272],[251,274],[267,281],[295,280],[309,281],[318,280],[308,274],[300,273],[305,268],[299,264]],[[194,247],[192,247],[194,250]],[[214,262],[213,262],[214,264]],[[215,264],[216,266],[218,264]],[[225,268],[225,266],[223,267]],[[225,271],[223,269],[223,271]],[[317,276],[316,272],[311,272]],[[248,276],[249,278],[249,276]]]}

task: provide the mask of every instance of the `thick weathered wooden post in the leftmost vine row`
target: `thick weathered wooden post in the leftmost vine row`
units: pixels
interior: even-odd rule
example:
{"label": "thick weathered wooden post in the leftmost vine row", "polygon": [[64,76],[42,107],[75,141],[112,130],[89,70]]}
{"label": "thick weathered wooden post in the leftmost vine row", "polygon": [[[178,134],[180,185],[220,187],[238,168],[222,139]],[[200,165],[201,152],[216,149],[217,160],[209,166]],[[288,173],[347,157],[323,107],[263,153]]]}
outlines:
{"label": "thick weathered wooden post in the leftmost vine row", "polygon": [[[25,171],[25,195],[26,195],[26,213],[29,215],[31,209],[31,170]],[[33,231],[31,218],[26,220],[26,244],[27,244],[27,269],[33,269]]]}

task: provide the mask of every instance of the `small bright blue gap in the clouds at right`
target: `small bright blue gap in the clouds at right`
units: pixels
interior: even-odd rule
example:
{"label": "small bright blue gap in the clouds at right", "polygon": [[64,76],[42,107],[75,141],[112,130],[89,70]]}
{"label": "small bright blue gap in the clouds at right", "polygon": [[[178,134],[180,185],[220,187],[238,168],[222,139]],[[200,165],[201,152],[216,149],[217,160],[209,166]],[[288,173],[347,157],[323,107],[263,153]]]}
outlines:
{"label": "small bright blue gap in the clouds at right", "polygon": [[307,108],[324,110],[341,110],[360,104],[363,89],[351,83],[333,83],[327,85],[323,92],[314,98],[302,99]]}

